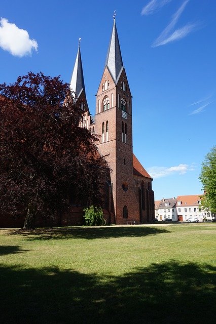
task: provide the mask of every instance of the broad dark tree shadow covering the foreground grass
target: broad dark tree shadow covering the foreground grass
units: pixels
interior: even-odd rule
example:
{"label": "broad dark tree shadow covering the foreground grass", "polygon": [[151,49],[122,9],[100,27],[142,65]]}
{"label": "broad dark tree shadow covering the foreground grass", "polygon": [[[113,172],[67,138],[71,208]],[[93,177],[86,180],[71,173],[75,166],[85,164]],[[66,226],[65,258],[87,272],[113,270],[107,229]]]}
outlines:
{"label": "broad dark tree shadow covering the foreground grass", "polygon": [[0,270],[2,323],[214,323],[210,265],[171,261],[123,276],[54,266]]}

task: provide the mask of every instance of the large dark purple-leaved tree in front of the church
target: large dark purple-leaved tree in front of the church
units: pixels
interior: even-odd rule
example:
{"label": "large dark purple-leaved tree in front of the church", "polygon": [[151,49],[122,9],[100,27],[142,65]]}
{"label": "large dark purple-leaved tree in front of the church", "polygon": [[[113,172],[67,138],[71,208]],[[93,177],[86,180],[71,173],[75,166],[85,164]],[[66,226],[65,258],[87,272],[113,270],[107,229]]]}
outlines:
{"label": "large dark purple-leaved tree in front of the church", "polygon": [[101,206],[107,172],[97,140],[78,127],[81,102],[59,76],[29,72],[0,85],[0,213],[25,213],[24,229],[37,215],[54,217],[69,199]]}

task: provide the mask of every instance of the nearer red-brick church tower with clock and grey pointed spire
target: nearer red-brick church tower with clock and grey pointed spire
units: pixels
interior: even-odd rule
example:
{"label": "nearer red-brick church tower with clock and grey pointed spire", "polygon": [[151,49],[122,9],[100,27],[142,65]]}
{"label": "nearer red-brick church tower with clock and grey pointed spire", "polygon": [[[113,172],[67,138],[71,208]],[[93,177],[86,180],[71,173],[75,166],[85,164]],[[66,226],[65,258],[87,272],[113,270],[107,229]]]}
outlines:
{"label": "nearer red-brick church tower with clock and grey pointed spire", "polygon": [[139,194],[133,177],[132,96],[114,18],[105,67],[96,95],[98,151],[111,168],[115,221],[140,222]]}

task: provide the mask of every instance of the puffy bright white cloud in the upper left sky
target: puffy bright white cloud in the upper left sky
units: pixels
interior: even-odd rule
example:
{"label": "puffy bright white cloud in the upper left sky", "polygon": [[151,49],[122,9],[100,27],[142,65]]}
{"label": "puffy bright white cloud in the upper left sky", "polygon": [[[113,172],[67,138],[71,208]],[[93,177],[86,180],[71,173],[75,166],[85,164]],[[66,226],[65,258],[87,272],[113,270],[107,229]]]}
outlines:
{"label": "puffy bright white cloud in the upper left sky", "polygon": [[0,47],[14,56],[31,55],[32,50],[38,50],[38,43],[30,39],[27,30],[9,23],[6,18],[0,20]]}

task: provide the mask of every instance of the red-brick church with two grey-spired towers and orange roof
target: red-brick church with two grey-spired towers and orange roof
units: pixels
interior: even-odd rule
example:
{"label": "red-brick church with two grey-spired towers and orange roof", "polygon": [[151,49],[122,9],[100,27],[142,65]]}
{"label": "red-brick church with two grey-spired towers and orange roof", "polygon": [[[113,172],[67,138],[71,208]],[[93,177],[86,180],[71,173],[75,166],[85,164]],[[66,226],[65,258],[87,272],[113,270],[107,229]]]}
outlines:
{"label": "red-brick church with two grey-spired towers and orange roof", "polygon": [[[107,155],[110,176],[104,185],[104,218],[107,224],[149,223],[155,218],[153,179],[133,154],[132,96],[115,18],[105,67],[101,72],[96,111],[92,116],[86,98],[79,44],[70,89],[83,102],[83,118],[79,126],[98,136],[98,152]],[[76,210],[72,209],[71,215],[64,217],[62,225],[74,225],[73,213],[76,214]]]}

